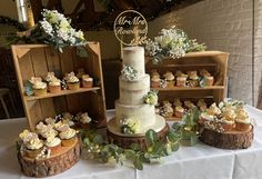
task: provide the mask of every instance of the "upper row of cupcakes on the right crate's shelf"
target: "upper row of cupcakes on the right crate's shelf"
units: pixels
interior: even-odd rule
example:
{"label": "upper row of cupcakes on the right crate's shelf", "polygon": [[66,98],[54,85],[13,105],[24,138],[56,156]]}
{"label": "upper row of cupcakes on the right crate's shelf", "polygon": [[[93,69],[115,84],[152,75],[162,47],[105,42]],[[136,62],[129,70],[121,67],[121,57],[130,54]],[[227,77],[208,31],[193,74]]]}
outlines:
{"label": "upper row of cupcakes on the right crate's shelf", "polygon": [[157,69],[151,71],[152,88],[172,88],[172,87],[210,87],[214,83],[214,77],[205,69],[198,71],[167,71],[161,77]]}

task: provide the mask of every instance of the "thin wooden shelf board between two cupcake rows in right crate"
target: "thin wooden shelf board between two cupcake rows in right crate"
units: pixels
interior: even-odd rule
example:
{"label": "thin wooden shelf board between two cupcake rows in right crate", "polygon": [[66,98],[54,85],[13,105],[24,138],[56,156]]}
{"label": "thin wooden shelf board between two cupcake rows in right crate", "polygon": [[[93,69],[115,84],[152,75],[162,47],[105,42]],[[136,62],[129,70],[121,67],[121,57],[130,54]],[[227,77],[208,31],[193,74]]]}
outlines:
{"label": "thin wooden shelf board between two cupcake rows in right crate", "polygon": [[173,88],[151,88],[158,91],[184,91],[184,90],[215,90],[224,89],[224,86],[211,86],[211,87],[173,87]]}

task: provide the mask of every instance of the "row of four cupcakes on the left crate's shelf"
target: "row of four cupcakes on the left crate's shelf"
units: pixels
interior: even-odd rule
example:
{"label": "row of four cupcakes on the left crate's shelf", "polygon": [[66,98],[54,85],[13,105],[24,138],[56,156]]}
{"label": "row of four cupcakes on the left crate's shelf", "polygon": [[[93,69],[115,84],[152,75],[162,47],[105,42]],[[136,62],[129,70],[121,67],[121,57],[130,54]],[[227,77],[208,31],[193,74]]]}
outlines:
{"label": "row of four cupcakes on the left crate's shelf", "polygon": [[61,90],[77,90],[82,88],[92,88],[93,78],[84,73],[84,71],[79,70],[75,76],[74,72],[66,73],[63,79],[59,79],[54,76],[54,72],[48,72],[47,77],[42,79],[41,77],[31,77],[28,86],[26,86],[26,93],[28,96],[44,96],[47,92],[56,93]]}

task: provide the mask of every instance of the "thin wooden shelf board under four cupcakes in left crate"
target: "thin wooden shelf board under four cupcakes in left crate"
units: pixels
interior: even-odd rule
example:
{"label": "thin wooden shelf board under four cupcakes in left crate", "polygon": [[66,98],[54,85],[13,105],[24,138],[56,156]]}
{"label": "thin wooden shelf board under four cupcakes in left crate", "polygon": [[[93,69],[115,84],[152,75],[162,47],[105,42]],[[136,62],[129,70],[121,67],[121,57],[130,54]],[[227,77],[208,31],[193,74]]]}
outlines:
{"label": "thin wooden shelf board under four cupcakes in left crate", "polygon": [[44,99],[44,98],[53,98],[59,96],[68,96],[72,93],[80,93],[80,92],[88,92],[88,91],[97,91],[100,90],[100,87],[93,87],[93,88],[79,88],[78,90],[62,90],[61,92],[51,93],[48,92],[46,96],[23,96],[23,98],[27,101],[38,100],[38,99]]}

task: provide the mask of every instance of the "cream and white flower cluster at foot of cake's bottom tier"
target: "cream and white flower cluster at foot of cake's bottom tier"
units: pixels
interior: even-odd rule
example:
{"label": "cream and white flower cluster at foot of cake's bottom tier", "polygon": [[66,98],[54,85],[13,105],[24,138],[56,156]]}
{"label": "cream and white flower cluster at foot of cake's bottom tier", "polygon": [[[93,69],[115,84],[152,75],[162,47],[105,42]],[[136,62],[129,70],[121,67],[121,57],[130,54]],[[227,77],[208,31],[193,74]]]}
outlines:
{"label": "cream and white flower cluster at foot of cake's bottom tier", "polygon": [[128,118],[121,120],[122,133],[128,133],[128,135],[138,133],[139,128],[140,128],[140,122],[135,118]]}

